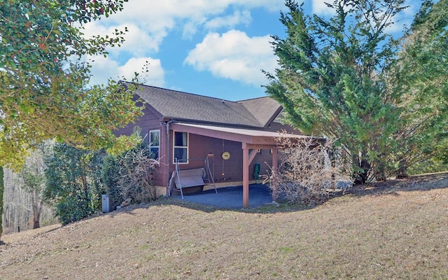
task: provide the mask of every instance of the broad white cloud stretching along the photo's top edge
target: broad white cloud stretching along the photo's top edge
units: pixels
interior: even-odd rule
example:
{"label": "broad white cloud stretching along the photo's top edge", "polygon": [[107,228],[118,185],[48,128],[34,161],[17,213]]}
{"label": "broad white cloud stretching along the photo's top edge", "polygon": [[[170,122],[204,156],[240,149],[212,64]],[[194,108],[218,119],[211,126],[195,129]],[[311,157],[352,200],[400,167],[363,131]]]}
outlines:
{"label": "broad white cloud stretching along the photo's top edge", "polygon": [[[169,31],[176,27],[180,27],[183,36],[189,38],[205,22],[209,22],[210,27],[225,23],[223,19],[232,22],[231,25],[226,25],[227,27],[233,27],[238,22],[247,24],[247,19],[244,17],[248,12],[235,12],[234,15],[227,17],[224,14],[228,8],[234,10],[265,8],[279,11],[283,8],[283,0],[130,0],[124,4],[124,9],[119,13],[99,22],[87,24],[85,33],[110,34],[113,29],[118,27],[123,29],[126,26],[130,29],[130,34],[127,35],[129,42],[125,45],[127,49],[138,51],[141,45],[147,45],[146,53],[157,52],[158,45]],[[137,40],[137,34],[140,34],[140,40]]]}

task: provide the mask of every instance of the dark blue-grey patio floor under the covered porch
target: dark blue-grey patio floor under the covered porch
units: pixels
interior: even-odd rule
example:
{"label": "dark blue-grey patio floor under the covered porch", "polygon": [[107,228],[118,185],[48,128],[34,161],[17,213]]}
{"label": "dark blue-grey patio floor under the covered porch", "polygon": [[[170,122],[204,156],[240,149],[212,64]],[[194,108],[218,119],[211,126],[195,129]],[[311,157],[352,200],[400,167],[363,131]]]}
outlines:
{"label": "dark blue-grey patio floor under the covered porch", "polygon": [[[173,195],[172,197],[181,200],[181,195]],[[196,202],[200,204],[213,205],[226,209],[243,208],[243,186],[218,188],[215,190],[205,190],[200,193],[192,193],[183,195],[183,200],[188,202]],[[249,207],[256,208],[265,204],[272,203],[272,195],[267,185],[251,184],[249,185]]]}

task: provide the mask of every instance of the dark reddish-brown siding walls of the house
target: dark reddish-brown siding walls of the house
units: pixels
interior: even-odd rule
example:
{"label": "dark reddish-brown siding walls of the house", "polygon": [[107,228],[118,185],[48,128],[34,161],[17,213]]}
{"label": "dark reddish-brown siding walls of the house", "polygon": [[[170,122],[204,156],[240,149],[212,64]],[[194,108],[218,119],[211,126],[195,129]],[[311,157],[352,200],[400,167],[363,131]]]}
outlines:
{"label": "dark reddish-brown siding walls of the house", "polygon": [[[117,135],[130,135],[133,132],[133,128],[138,126],[141,128],[141,137],[145,137],[145,144],[149,144],[149,132],[151,130],[160,130],[160,166],[155,170],[155,185],[158,195],[166,195],[166,187],[169,183],[169,178],[175,170],[173,162],[174,132],[169,130],[169,134],[166,133],[167,121],[168,120],[164,120],[151,109],[146,108],[144,109],[144,115],[141,116],[139,120],[116,132]],[[277,122],[272,122],[265,130],[271,132],[287,130],[288,132],[301,134],[300,131],[293,130],[289,125],[282,125]],[[229,160],[223,160],[223,158],[221,158],[221,154],[225,151],[228,151],[231,155]],[[238,186],[242,184],[243,151],[240,142],[204,137],[198,134],[189,134],[188,158],[195,160],[190,160],[188,164],[181,164],[180,169],[204,167],[204,160],[208,154],[213,155],[209,156],[209,166],[214,175],[217,187]],[[255,182],[253,172],[256,163],[260,163],[261,165],[260,175],[267,175],[272,167],[272,154],[270,151],[262,150],[261,153],[255,155],[255,158],[251,162],[251,165],[249,166],[249,180],[253,182]],[[262,182],[262,178],[257,182]],[[209,186],[205,189],[207,188],[212,187]]]}

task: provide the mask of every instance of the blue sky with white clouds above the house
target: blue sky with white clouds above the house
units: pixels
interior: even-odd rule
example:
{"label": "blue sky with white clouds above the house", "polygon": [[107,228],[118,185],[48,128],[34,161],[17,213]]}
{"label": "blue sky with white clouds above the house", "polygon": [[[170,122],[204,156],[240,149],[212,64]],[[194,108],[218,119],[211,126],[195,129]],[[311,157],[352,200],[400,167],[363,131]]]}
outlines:
{"label": "blue sky with white clouds above the house", "polygon": [[[417,0],[391,32],[412,22]],[[305,0],[307,13],[331,15],[323,0]],[[271,36],[285,37],[283,0],[129,0],[124,10],[85,25],[85,36],[129,30],[120,48],[92,60],[93,84],[108,78],[237,101],[266,96],[262,70],[278,68]],[[146,62],[148,72],[144,71]]]}

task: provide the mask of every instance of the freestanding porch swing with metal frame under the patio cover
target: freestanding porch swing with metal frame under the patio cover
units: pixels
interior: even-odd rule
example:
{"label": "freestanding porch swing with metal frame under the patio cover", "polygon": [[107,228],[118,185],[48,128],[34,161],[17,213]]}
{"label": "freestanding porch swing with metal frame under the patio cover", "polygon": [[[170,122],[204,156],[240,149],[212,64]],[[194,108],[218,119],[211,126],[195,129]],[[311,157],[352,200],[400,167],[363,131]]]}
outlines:
{"label": "freestanding porch swing with metal frame under the patio cover", "polygon": [[187,161],[204,160],[204,167],[182,170],[179,165],[179,163],[181,163],[181,160],[179,160],[178,158],[175,158],[174,159],[175,170],[172,173],[171,179],[169,179],[170,193],[172,190],[179,191],[181,193],[181,196],[183,199],[183,189],[184,188],[204,187],[209,184],[213,184],[213,186],[215,188],[215,192],[218,193],[218,190],[216,190],[213,173],[211,172],[211,169],[210,169],[209,157],[207,156],[205,158],[183,159],[182,162],[185,162],[186,160]]}

